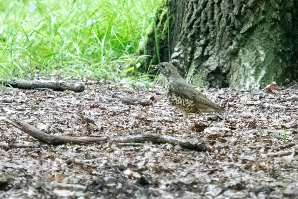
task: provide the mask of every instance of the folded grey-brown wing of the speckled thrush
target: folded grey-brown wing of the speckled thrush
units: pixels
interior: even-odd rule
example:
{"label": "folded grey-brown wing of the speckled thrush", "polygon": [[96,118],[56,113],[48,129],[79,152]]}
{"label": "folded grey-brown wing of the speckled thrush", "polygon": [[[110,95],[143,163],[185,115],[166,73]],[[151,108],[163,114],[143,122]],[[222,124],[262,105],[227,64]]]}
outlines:
{"label": "folded grey-brown wing of the speckled thrush", "polygon": [[224,108],[214,104],[205,95],[195,90],[195,88],[188,84],[183,78],[176,79],[170,84],[170,92],[207,105],[215,111],[226,112]]}

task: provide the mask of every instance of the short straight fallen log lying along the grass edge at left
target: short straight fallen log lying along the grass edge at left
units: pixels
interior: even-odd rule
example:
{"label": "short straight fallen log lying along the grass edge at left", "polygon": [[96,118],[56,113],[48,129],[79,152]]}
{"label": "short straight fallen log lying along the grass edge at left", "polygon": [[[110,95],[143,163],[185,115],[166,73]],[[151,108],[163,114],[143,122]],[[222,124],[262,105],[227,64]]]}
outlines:
{"label": "short straight fallen log lying along the grass edge at left", "polygon": [[28,80],[5,80],[0,79],[0,84],[8,87],[14,87],[19,89],[36,89],[47,88],[55,91],[72,90],[74,92],[82,92],[85,90],[83,84],[67,83],[65,81],[28,81]]}

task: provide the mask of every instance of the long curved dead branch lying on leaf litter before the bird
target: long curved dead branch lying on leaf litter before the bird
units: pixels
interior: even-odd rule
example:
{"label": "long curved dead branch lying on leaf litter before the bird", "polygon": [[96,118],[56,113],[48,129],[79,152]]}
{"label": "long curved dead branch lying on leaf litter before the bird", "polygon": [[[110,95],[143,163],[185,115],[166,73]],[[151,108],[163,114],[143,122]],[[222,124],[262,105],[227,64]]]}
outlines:
{"label": "long curved dead branch lying on leaf litter before the bird", "polygon": [[205,142],[193,142],[184,139],[174,138],[164,134],[144,134],[144,135],[129,135],[119,137],[70,137],[61,135],[49,135],[37,128],[29,125],[25,121],[19,118],[13,118],[8,116],[5,119],[9,124],[17,127],[25,133],[31,135],[38,141],[44,142],[50,145],[61,145],[66,143],[73,144],[94,144],[101,142],[117,142],[117,143],[145,143],[152,142],[153,144],[171,144],[173,146],[179,145],[183,149],[195,150],[195,151],[213,151],[212,146]]}

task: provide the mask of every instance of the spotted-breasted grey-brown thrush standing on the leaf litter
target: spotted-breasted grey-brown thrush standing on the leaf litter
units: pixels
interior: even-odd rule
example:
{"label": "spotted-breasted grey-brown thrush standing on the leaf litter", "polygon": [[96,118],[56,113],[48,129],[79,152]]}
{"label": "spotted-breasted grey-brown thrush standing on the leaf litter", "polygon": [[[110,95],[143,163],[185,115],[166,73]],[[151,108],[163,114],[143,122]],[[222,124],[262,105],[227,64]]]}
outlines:
{"label": "spotted-breasted grey-brown thrush standing on the leaf litter", "polygon": [[183,114],[183,121],[180,130],[188,117],[189,113],[209,113],[209,112],[222,112],[235,115],[226,109],[214,104],[205,95],[198,92],[187,81],[185,81],[177,69],[168,62],[163,62],[151,67],[158,68],[165,77],[165,90],[169,101],[181,110]]}

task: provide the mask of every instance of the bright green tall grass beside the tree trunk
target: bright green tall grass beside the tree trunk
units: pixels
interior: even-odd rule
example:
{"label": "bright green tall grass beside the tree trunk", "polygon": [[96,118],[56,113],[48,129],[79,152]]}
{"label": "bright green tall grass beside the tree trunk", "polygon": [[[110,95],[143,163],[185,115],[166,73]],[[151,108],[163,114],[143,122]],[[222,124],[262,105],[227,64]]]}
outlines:
{"label": "bright green tall grass beside the tree trunk", "polygon": [[[159,0],[0,0],[0,78],[138,79]],[[146,52],[146,51],[144,51]],[[147,78],[147,77],[146,77]]]}

